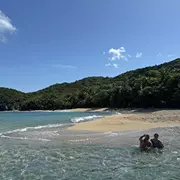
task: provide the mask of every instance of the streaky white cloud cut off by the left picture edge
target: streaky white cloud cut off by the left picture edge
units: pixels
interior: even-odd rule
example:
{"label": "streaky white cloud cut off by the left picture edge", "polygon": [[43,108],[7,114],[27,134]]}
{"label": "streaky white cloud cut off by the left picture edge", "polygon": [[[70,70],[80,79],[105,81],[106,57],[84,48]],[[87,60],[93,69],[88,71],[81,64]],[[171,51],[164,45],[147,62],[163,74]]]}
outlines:
{"label": "streaky white cloud cut off by the left picture edge", "polygon": [[12,34],[16,30],[16,27],[11,23],[11,19],[0,10],[0,41],[5,43],[7,34]]}

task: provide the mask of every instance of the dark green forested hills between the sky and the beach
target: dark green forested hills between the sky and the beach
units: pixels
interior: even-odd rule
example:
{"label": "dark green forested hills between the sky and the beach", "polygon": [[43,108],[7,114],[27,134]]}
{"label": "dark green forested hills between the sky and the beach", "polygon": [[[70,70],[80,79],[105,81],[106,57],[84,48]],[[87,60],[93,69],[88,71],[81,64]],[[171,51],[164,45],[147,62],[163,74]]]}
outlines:
{"label": "dark green forested hills between the sky and the beach", "polygon": [[180,108],[180,59],[114,78],[88,77],[55,84],[33,93],[0,88],[0,110],[80,107]]}

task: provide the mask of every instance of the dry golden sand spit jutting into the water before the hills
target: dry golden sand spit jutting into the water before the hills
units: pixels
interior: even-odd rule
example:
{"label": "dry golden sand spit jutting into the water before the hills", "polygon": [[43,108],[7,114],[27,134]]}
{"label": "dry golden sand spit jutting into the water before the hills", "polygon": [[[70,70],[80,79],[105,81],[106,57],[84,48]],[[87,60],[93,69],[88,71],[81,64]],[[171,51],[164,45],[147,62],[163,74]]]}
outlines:
{"label": "dry golden sand spit jutting into the water before the hills", "polygon": [[69,130],[96,132],[143,130],[156,127],[180,126],[180,110],[124,112],[94,121],[78,123]]}

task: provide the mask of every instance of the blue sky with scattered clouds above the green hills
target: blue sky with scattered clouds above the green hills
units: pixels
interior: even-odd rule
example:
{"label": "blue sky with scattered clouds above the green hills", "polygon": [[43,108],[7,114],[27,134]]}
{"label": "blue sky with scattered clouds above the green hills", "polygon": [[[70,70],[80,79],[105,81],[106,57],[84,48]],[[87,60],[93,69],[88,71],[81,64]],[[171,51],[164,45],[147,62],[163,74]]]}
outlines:
{"label": "blue sky with scattered clouds above the green hills", "polygon": [[173,60],[179,7],[179,0],[0,0],[0,87],[32,92]]}

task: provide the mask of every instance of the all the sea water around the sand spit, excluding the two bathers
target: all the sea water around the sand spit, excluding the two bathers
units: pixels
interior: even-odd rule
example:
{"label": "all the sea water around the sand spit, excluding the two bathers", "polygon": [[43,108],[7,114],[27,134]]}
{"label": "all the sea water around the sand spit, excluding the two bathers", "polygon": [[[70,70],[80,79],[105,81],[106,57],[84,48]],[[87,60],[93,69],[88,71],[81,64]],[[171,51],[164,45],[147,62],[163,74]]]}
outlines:
{"label": "all the sea water around the sand spit, excluding the two bathers", "polygon": [[[68,131],[111,113],[1,112],[0,180],[179,180],[180,128]],[[138,138],[160,134],[163,151],[141,153]]]}

